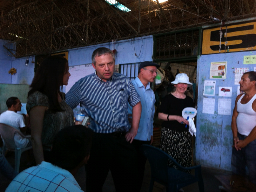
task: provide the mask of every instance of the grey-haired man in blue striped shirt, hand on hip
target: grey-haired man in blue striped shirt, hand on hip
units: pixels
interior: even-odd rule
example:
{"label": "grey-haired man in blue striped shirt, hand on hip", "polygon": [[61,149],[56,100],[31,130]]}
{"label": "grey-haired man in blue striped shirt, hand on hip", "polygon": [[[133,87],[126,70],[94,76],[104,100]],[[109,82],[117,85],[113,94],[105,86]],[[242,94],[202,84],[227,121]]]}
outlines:
{"label": "grey-haired man in blue striped shirt, hand on hip", "polygon": [[[85,107],[94,131],[86,191],[102,191],[109,169],[116,192],[136,191],[136,151],[130,143],[139,128],[141,98],[126,76],[114,73],[115,56],[110,49],[94,50],[92,64],[95,73],[81,78],[66,95],[71,108],[79,103]],[[127,101],[133,107],[130,129]]]}

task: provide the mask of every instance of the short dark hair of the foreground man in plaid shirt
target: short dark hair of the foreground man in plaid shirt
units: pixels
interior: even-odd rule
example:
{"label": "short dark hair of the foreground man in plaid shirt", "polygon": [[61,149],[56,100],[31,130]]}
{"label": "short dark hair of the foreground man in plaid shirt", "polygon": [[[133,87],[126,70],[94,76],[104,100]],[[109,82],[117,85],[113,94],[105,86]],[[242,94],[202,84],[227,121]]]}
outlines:
{"label": "short dark hair of the foreground man in plaid shirt", "polygon": [[82,125],[62,129],[53,141],[50,163],[62,169],[74,169],[90,154],[92,133]]}

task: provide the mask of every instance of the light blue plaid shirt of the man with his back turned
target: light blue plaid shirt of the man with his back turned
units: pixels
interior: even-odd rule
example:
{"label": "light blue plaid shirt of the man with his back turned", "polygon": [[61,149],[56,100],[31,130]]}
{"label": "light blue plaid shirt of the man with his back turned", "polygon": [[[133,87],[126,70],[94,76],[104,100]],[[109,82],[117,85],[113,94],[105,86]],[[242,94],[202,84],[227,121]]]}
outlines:
{"label": "light blue plaid shirt of the man with his back turned", "polygon": [[73,175],[48,162],[20,172],[6,192],[82,192]]}

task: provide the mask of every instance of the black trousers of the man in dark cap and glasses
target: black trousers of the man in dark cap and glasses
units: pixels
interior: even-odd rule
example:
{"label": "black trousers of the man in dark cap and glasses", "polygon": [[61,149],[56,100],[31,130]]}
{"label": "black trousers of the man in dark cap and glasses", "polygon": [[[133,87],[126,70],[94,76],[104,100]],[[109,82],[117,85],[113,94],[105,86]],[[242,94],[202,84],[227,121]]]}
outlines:
{"label": "black trousers of the man in dark cap and glasses", "polygon": [[134,148],[137,151],[137,164],[138,164],[138,191],[140,191],[142,183],[143,183],[143,177],[144,177],[144,171],[145,171],[145,164],[147,162],[147,157],[144,156],[142,151],[140,150],[140,146],[142,144],[150,144],[150,141],[143,141],[143,140],[136,140],[134,139],[132,142]]}

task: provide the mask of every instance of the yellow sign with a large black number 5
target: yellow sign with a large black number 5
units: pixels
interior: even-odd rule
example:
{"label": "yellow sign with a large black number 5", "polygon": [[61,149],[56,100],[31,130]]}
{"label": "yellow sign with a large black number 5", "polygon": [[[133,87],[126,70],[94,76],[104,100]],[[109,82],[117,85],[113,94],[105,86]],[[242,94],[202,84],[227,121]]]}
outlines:
{"label": "yellow sign with a large black number 5", "polygon": [[[203,30],[202,54],[238,52],[256,49],[256,22]],[[221,40],[221,52],[220,50]]]}

